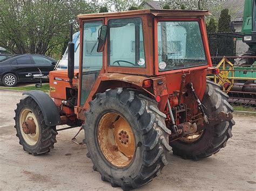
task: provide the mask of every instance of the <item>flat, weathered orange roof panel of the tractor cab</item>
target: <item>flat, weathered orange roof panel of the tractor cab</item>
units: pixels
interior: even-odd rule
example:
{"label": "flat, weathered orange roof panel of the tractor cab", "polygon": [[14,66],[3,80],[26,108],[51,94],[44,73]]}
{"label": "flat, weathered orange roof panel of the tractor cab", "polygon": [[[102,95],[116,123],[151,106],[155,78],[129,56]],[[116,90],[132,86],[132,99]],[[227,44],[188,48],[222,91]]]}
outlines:
{"label": "flat, weathered orange roof panel of the tractor cab", "polygon": [[150,14],[154,17],[183,17],[183,18],[194,18],[204,17],[211,15],[206,10],[166,10],[166,9],[143,9],[134,11],[123,11],[123,12],[103,12],[103,13],[92,13],[78,15],[78,18],[103,18],[103,17],[117,17],[117,16],[132,16],[132,15],[144,15]]}

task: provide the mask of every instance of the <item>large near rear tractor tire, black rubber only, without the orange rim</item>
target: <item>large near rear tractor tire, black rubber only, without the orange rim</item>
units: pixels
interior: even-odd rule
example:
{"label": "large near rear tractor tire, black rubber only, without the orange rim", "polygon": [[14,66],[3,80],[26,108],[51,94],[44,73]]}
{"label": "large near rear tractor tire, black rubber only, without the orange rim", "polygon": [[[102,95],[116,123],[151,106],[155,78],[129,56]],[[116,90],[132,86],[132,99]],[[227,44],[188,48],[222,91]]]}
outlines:
{"label": "large near rear tractor tire, black rubber only, without the orange rim", "polygon": [[[122,115],[132,127],[136,142],[136,153],[131,163],[117,168],[108,162],[97,143],[99,119],[107,112]],[[85,113],[85,143],[93,162],[93,169],[102,175],[103,181],[112,187],[124,190],[140,187],[159,175],[168,164],[165,155],[171,151],[169,135],[165,126],[165,114],[157,108],[157,102],[123,88],[109,89],[96,95]]]}

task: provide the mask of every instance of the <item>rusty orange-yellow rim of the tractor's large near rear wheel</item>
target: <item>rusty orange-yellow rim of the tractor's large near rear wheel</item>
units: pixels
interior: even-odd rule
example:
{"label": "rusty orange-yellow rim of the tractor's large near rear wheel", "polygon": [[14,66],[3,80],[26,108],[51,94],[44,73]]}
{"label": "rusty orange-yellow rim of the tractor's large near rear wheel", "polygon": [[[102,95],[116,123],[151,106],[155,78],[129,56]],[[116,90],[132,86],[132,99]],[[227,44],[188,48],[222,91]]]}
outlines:
{"label": "rusty orange-yellow rim of the tractor's large near rear wheel", "polygon": [[130,124],[116,112],[100,118],[97,129],[98,145],[107,161],[117,167],[130,164],[135,153],[135,138]]}

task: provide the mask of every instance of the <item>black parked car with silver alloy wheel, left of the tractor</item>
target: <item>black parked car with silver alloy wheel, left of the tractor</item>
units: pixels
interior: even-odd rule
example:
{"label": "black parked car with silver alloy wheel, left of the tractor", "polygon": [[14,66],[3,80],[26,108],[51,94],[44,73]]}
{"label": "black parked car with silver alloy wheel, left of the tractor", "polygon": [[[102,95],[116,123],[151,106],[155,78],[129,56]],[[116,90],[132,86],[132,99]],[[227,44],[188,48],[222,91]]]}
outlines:
{"label": "black parked car with silver alloy wheel, left of the tractor", "polygon": [[0,60],[0,82],[4,86],[14,87],[17,82],[38,81],[29,74],[48,75],[57,61],[41,54],[19,54]]}

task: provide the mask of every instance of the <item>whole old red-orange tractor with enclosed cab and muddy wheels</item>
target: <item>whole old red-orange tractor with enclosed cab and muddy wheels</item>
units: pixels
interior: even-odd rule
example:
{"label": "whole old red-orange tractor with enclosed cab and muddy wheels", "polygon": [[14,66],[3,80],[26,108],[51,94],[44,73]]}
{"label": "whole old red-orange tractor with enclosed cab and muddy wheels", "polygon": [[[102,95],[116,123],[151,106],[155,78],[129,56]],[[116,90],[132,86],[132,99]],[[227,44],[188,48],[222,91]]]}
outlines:
{"label": "whole old red-orange tractor with enclosed cab and muddy wheels", "polygon": [[[159,175],[166,155],[201,159],[232,137],[228,96],[206,79],[212,68],[207,11],[136,10],[79,15],[80,62],[50,72],[50,96],[17,104],[19,143],[49,152],[57,125],[82,126],[87,157],[103,181],[132,189]],[[72,30],[71,30],[72,31]],[[72,41],[72,32],[71,32]]]}

